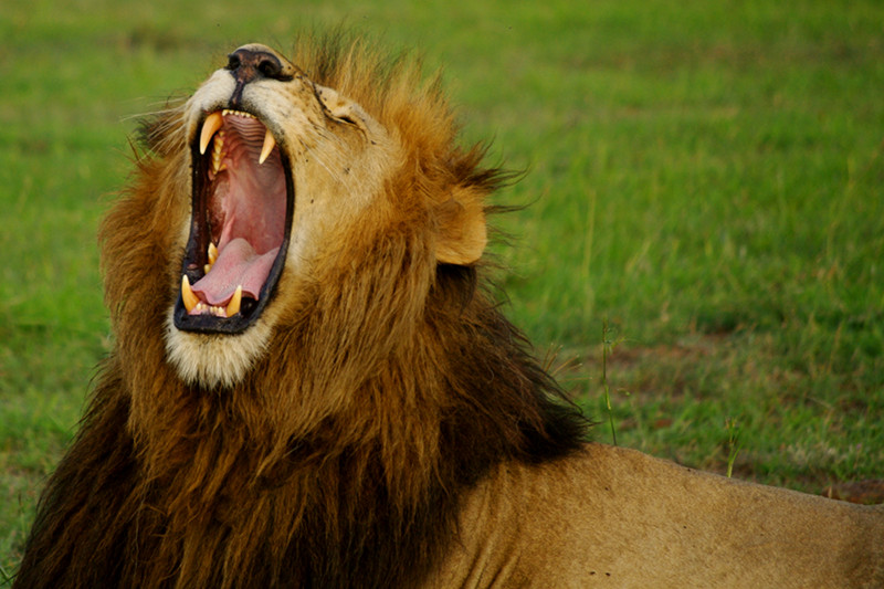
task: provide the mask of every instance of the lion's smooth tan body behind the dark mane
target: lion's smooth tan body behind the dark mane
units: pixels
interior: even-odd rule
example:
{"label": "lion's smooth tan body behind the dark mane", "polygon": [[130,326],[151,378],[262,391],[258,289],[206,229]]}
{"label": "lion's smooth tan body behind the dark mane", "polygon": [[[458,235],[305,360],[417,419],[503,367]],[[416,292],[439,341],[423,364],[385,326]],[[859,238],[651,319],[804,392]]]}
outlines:
{"label": "lion's smooth tan body behind the dark mane", "polygon": [[433,587],[882,587],[884,512],[590,444],[471,492]]}

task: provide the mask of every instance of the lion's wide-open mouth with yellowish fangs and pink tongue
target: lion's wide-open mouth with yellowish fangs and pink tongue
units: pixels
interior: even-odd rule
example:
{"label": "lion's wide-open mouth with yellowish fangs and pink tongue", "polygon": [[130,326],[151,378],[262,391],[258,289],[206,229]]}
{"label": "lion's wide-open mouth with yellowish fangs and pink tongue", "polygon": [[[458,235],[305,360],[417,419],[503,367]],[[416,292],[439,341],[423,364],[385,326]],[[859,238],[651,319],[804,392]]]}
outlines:
{"label": "lion's wide-open mouth with yellowish fangs and pink tongue", "polygon": [[291,166],[254,115],[210,113],[191,146],[193,200],[175,325],[235,334],[273,297],[292,228]]}

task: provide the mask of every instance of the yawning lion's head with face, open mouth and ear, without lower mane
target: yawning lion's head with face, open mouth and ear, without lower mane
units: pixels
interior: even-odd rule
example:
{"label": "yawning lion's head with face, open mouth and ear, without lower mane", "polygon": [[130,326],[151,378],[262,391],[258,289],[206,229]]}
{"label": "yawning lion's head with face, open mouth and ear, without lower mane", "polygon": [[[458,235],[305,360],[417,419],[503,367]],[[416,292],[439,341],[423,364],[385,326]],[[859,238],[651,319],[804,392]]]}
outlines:
{"label": "yawning lion's head with face, open mouth and ear, without lower mane", "polygon": [[190,209],[173,220],[171,251],[183,255],[165,339],[189,383],[240,382],[274,332],[309,308],[317,281],[365,264],[372,242],[406,223],[424,242],[423,272],[482,255],[488,186],[471,178],[474,154],[451,145],[439,96],[428,88],[403,103],[382,77],[368,92],[366,77],[382,72],[341,65],[333,88],[244,45],[164,120],[157,147],[181,151],[169,170],[175,210]]}

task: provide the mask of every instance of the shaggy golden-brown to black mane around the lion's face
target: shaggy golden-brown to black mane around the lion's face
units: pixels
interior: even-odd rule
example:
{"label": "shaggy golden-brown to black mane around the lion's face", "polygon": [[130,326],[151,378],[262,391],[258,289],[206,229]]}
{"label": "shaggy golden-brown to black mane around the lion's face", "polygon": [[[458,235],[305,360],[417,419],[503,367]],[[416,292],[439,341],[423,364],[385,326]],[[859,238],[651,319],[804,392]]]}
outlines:
{"label": "shaggy golden-brown to black mane around the lion's face", "polygon": [[397,214],[299,286],[242,382],[186,385],[162,319],[180,280],[172,221],[189,214],[181,108],[148,122],[101,229],[114,350],[42,496],[18,587],[415,585],[456,541],[466,488],[503,461],[583,441],[585,420],[482,267],[440,264],[428,243],[434,191],[484,198],[506,178],[482,147],[457,147],[438,82],[341,36],[294,53],[404,146],[387,187]]}

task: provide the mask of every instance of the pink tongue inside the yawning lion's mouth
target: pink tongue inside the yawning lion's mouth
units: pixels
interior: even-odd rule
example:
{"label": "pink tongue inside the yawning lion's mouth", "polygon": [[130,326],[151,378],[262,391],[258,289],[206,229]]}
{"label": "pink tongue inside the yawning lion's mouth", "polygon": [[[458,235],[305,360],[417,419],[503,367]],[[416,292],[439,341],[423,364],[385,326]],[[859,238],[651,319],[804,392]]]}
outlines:
{"label": "pink tongue inside the yawning lion's mouth", "polygon": [[192,290],[210,305],[227,305],[242,284],[243,296],[257,299],[278,251],[274,248],[259,255],[244,239],[231,240],[219,253],[212,271],[197,281]]}

